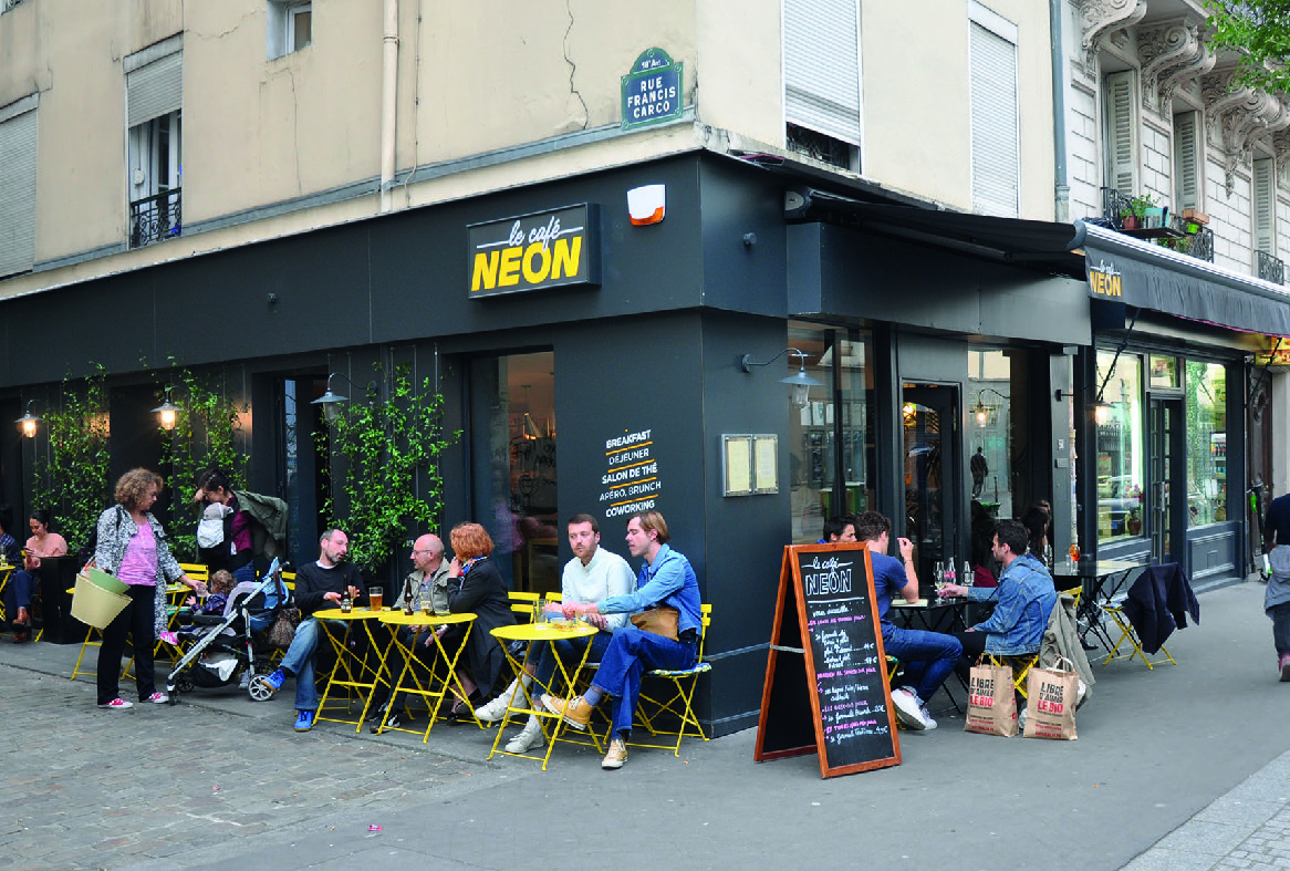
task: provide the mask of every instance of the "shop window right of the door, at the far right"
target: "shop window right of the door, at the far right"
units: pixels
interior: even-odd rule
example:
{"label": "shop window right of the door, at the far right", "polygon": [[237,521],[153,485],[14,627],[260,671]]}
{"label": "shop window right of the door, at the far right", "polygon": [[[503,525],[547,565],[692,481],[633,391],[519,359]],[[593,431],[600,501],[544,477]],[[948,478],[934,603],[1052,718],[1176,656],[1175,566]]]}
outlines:
{"label": "shop window right of the door, at the far right", "polygon": [[1227,520],[1227,370],[1187,361],[1187,525]]}

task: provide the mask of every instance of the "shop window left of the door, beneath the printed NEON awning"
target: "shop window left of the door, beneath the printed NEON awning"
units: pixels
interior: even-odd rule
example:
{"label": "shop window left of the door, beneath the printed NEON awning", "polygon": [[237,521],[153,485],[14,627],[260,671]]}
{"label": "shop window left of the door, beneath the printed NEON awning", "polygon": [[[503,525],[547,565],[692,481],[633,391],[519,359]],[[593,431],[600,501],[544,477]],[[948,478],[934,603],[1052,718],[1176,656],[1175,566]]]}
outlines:
{"label": "shop window left of the door, beneath the printed NEON awning", "polygon": [[1096,425],[1098,541],[1107,543],[1142,534],[1142,357],[1098,351],[1098,385],[1109,406]]}

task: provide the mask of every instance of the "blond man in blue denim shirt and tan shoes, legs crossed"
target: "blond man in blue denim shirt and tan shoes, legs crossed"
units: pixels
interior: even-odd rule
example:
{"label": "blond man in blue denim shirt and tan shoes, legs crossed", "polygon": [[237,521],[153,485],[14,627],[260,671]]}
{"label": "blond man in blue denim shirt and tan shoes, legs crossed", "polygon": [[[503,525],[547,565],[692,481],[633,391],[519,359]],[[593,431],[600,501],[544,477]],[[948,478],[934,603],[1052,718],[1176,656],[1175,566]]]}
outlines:
{"label": "blond man in blue denim shirt and tan shoes, legs crossed", "polygon": [[640,696],[641,675],[646,668],[689,668],[698,653],[702,613],[699,582],[690,561],[667,545],[667,521],[658,511],[642,511],[627,523],[627,548],[641,556],[636,592],[609,596],[599,603],[565,603],[565,617],[577,614],[623,614],[649,608],[675,608],[679,613],[677,640],[626,626],[614,630],[605,656],[596,670],[595,683],[583,696],[570,699],[542,696],[550,711],[561,715],[575,729],[586,729],[591,710],[605,696],[614,697],[613,738],[600,766],[622,768],[627,759],[627,739],[632,730],[632,714]]}

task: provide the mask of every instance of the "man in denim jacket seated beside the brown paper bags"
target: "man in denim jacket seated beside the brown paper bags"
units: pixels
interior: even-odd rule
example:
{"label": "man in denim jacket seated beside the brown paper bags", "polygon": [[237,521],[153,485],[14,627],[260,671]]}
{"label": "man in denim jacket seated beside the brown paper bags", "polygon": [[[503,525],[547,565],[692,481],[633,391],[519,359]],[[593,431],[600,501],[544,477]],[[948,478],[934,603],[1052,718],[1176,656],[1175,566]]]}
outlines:
{"label": "man in denim jacket seated beside the brown paper bags", "polygon": [[1000,520],[993,542],[995,559],[1004,564],[998,586],[969,590],[951,583],[942,591],[943,596],[996,603],[989,619],[957,634],[964,645],[960,667],[975,662],[983,653],[1011,657],[1040,649],[1049,614],[1057,604],[1057,590],[1049,570],[1027,552],[1028,543],[1026,526],[1015,520]]}

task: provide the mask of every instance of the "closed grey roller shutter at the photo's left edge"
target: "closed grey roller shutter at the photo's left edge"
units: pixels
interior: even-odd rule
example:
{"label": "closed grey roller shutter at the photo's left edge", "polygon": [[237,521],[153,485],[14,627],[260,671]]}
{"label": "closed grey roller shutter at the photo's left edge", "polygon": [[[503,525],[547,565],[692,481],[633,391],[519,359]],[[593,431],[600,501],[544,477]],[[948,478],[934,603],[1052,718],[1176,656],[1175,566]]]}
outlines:
{"label": "closed grey roller shutter at the photo's left edge", "polygon": [[26,272],[36,257],[36,101],[0,121],[0,276]]}

